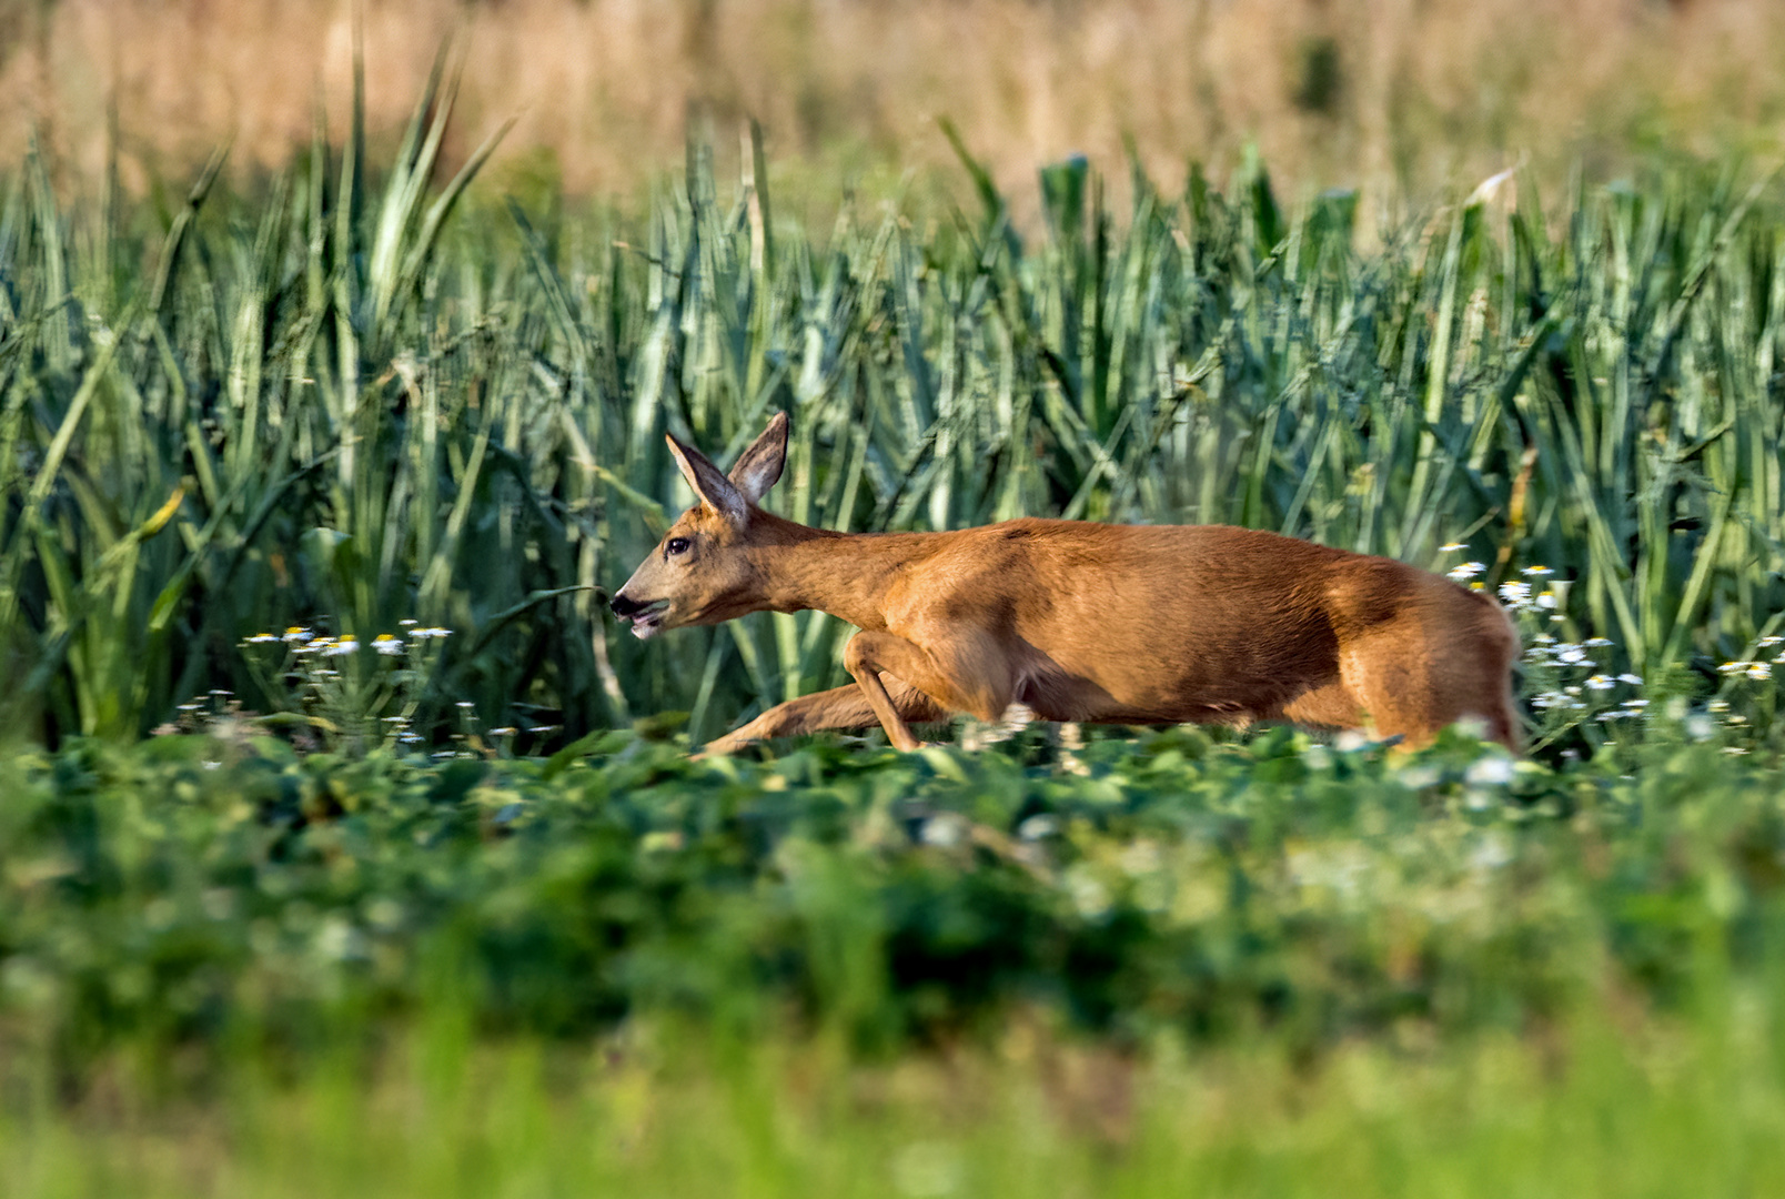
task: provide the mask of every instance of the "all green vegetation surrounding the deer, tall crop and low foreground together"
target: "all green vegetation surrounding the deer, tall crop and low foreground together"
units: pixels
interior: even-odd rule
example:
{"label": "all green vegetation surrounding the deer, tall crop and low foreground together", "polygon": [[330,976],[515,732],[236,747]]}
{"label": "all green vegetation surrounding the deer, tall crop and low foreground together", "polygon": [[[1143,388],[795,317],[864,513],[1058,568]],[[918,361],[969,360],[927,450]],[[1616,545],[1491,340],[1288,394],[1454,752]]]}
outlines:
{"label": "all green vegetation surrounding the deer, tall crop and low foreground together", "polygon": [[[969,203],[812,232],[753,134],[639,212],[478,191],[453,98],[264,194],[5,180],[9,1194],[1776,1172],[1771,175],[1366,228],[1257,159],[1119,207],[1066,159],[1028,228],[953,134]],[[687,501],[662,434],[775,410],[816,525],[1230,521],[1490,589],[1533,753],[691,762],[841,682],[821,614],[603,617]]]}

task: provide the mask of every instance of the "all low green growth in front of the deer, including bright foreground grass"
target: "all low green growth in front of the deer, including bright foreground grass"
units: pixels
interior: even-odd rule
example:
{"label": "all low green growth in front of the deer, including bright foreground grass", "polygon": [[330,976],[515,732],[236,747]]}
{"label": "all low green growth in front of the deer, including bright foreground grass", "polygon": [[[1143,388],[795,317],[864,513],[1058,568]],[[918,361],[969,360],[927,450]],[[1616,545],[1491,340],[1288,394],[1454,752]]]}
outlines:
{"label": "all low green growth in front of the deer, including bright foreground grass", "polygon": [[7,760],[7,1194],[1765,1194],[1785,780],[1176,730]]}

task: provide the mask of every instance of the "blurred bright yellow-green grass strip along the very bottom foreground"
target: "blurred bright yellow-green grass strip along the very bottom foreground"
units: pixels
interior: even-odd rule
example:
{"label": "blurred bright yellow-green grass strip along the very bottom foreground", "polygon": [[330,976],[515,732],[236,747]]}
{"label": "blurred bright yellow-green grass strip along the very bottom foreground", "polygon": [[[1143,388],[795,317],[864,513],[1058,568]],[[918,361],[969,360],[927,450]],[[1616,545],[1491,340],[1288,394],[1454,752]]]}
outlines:
{"label": "blurred bright yellow-green grass strip along the very bottom foreground", "polygon": [[[1778,1017],[1776,994],[1751,996]],[[662,1029],[669,1033],[673,1029]],[[1014,1029],[1000,1049],[846,1067],[823,1046],[650,1033],[380,1071],[239,1071],[203,1103],[129,1078],[0,1115],[11,1195],[1767,1195],[1778,1028],[1580,1024],[1533,1046],[1146,1060]]]}

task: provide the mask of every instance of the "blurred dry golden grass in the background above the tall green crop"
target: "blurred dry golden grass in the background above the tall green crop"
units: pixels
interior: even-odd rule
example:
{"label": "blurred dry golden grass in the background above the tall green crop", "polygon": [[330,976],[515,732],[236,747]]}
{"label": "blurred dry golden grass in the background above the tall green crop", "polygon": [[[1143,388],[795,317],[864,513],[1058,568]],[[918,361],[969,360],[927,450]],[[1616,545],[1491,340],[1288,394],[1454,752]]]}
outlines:
{"label": "blurred dry golden grass in the background above the tall green crop", "polygon": [[[362,0],[368,112],[407,114],[450,32],[461,152],[509,116],[507,170],[628,194],[691,121],[762,120],[778,170],[951,159],[948,116],[1016,193],[1085,152],[1119,175],[1221,171],[1248,143],[1298,189],[1376,196],[1519,159],[1612,171],[1655,143],[1773,148],[1785,120],[1776,0]],[[234,137],[287,161],[316,96],[336,130],[352,0],[0,0],[0,162],[41,130],[91,178],[118,112],[127,184]],[[496,171],[500,177],[502,164]]]}

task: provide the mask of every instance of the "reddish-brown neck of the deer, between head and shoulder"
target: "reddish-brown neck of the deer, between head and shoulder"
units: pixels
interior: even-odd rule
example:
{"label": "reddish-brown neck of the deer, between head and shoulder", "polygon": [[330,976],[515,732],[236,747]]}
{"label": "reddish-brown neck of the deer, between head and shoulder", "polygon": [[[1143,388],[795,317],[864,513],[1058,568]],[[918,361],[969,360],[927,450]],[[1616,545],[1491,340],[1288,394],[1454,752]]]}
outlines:
{"label": "reddish-brown neck of the deer, between head and shoulder", "polygon": [[828,612],[857,628],[885,628],[884,601],[900,567],[934,533],[837,533],[753,514],[764,526],[750,551],[771,612]]}

